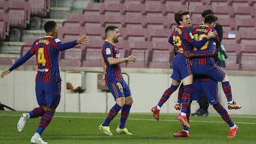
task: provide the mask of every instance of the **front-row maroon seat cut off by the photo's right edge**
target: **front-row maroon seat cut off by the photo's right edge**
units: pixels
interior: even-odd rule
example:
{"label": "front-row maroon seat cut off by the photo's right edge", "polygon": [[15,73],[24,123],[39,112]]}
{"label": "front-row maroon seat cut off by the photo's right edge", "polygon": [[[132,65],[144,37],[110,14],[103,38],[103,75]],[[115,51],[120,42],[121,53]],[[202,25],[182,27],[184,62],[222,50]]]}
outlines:
{"label": "front-row maroon seat cut off by the photo's right edge", "polygon": [[242,70],[256,70],[256,45],[245,45],[241,51]]}

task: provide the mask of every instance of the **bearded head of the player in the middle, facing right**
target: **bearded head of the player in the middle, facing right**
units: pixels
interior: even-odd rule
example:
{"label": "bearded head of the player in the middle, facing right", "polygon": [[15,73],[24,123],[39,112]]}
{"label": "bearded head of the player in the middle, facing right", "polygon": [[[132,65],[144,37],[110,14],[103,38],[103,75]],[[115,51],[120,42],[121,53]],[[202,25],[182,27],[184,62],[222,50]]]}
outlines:
{"label": "bearded head of the player in the middle, facing right", "polygon": [[105,35],[107,40],[112,40],[113,43],[117,43],[119,36],[121,36],[117,26],[107,26],[105,28]]}

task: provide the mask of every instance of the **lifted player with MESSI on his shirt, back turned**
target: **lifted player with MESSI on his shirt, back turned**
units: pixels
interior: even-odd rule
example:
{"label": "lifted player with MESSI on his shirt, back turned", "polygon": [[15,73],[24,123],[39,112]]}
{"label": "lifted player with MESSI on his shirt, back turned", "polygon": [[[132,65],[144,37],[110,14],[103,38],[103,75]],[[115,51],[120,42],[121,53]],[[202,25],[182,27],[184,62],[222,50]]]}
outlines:
{"label": "lifted player with MESSI on his shirt, back turned", "polygon": [[[201,38],[208,35],[210,31],[215,31],[213,28],[215,28],[217,20],[218,18],[216,16],[208,14],[203,25],[193,28],[192,33],[194,37],[197,40],[201,40]],[[233,101],[227,74],[215,64],[213,55],[215,53],[216,42],[218,42],[218,37],[216,38],[217,39],[208,40],[208,43],[203,45],[202,48],[186,52],[184,55],[185,57],[193,57],[191,59],[193,74],[204,74],[218,82],[222,82],[223,92],[228,100],[228,109],[240,109],[241,106]]]}

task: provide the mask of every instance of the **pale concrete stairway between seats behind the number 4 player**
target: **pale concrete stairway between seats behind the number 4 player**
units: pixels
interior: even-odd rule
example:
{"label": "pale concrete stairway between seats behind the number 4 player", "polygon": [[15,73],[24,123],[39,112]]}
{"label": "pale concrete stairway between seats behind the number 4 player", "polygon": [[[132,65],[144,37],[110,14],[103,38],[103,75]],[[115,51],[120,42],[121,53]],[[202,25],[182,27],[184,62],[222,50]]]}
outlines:
{"label": "pale concrete stairway between seats behind the number 4 player", "polygon": [[9,38],[0,42],[0,57],[20,57],[21,45],[27,38],[41,38],[45,35],[43,26],[46,21],[56,21],[58,26],[70,13],[82,13],[90,0],[51,0],[50,12],[46,17],[31,17],[30,24],[25,29],[10,28]]}

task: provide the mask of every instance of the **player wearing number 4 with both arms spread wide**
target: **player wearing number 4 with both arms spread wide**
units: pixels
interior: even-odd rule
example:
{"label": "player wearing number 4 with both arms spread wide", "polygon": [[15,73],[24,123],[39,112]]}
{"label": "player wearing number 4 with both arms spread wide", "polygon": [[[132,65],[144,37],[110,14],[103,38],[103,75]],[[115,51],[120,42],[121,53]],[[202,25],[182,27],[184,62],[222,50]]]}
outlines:
{"label": "player wearing number 4 with both arms spread wide", "polygon": [[17,67],[22,65],[33,55],[36,55],[37,74],[36,74],[36,99],[38,107],[23,113],[18,121],[18,132],[23,131],[24,126],[29,118],[37,118],[42,116],[41,121],[36,129],[36,133],[31,138],[33,144],[47,144],[43,141],[41,135],[53,118],[55,109],[60,102],[60,72],[58,66],[58,58],[60,51],[73,48],[78,44],[86,44],[88,42],[87,35],[82,35],[78,40],[68,43],[62,43],[58,38],[58,28],[55,21],[47,21],[44,25],[46,36],[36,40],[31,49],[20,57],[14,65],[1,73],[1,78]]}

